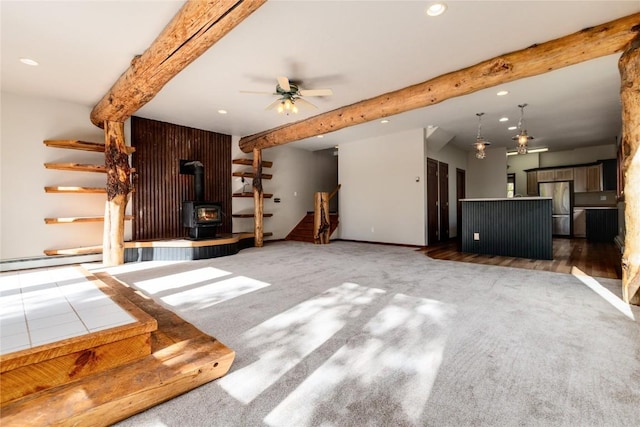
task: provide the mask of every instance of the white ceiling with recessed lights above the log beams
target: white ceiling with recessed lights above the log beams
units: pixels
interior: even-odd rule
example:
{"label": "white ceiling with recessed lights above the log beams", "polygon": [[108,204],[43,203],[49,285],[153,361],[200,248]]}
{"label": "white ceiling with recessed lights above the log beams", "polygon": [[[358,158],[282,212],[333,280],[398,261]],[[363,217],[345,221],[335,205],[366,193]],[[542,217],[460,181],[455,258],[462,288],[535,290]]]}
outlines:
{"label": "white ceiling with recessed lights above the log beams", "polygon": [[[93,107],[181,7],[181,1],[6,1],[0,3],[2,90]],[[431,18],[428,1],[270,0],[170,81],[136,115],[246,136],[420,83],[482,60],[640,12],[640,1],[451,1]],[[40,66],[18,59],[30,57]],[[309,138],[310,150],[429,125],[472,149],[476,113],[494,147],[513,146],[527,103],[531,146],[551,150],[614,143],[619,135],[617,60],[612,55]],[[276,77],[304,89],[318,110],[278,115],[265,107]],[[497,97],[498,89],[510,94]],[[228,111],[226,115],[217,113]],[[509,121],[499,123],[506,116]],[[87,117],[87,121],[89,117]]]}

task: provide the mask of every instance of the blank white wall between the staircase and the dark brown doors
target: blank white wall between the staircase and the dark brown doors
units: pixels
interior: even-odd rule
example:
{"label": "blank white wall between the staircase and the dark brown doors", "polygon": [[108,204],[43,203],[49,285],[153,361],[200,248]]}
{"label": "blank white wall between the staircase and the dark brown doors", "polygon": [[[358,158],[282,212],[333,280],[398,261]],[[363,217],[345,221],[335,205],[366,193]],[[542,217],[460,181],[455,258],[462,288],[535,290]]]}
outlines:
{"label": "blank white wall between the staircase and the dark brown doors", "polygon": [[423,130],[347,142],[339,151],[340,237],[425,245]]}

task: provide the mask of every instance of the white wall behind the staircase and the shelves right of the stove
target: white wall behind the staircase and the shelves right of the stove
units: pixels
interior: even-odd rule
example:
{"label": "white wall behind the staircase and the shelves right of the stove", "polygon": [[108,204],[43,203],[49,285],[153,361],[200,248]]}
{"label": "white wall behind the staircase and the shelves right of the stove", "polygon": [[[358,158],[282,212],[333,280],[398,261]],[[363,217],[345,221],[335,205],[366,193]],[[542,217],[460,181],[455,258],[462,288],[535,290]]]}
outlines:
{"label": "white wall behind the staircase and the shelves right of the stove", "polygon": [[[231,153],[234,159],[251,158],[238,147],[239,137],[232,137]],[[263,168],[263,173],[272,174],[270,180],[262,180],[265,193],[272,193],[271,199],[264,199],[264,212],[273,217],[264,219],[264,231],[273,236],[265,240],[284,239],[306,215],[313,210],[313,194],[318,190],[315,156],[313,152],[288,145],[268,148],[262,151],[263,161],[272,161],[273,167]],[[251,170],[250,167],[233,165],[233,170]],[[253,191],[251,179],[246,179],[247,191]],[[240,178],[233,177],[231,188],[234,193],[242,190]],[[280,203],[275,199],[279,198]],[[252,198],[233,198],[233,213],[253,212]],[[253,232],[253,218],[234,218],[233,232]]]}

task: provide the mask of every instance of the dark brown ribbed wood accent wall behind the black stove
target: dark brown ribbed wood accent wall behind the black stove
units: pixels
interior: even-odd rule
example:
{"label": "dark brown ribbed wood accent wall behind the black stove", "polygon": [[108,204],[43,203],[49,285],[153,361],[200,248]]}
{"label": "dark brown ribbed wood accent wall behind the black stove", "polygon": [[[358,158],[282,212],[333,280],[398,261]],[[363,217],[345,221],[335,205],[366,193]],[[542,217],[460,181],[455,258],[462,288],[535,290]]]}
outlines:
{"label": "dark brown ribbed wood accent wall behind the black stove", "polygon": [[223,207],[218,232],[232,231],[230,135],[132,117],[131,145],[134,240],[187,236],[182,201],[194,200],[194,177],[180,174],[180,160],[202,162],[205,200]]}

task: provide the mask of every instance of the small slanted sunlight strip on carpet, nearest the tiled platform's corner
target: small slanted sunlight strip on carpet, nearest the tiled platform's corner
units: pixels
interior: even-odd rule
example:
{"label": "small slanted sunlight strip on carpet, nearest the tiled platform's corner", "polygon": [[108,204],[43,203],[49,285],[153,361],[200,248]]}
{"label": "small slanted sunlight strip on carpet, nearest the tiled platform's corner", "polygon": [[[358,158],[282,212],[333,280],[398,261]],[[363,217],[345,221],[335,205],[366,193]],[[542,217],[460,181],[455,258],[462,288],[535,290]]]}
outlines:
{"label": "small slanted sunlight strip on carpet, nearest the tiled platform's corner", "polygon": [[236,276],[171,294],[160,300],[182,310],[202,310],[267,286],[271,285],[250,277]]}

